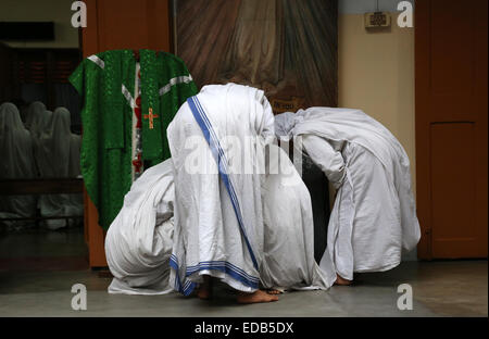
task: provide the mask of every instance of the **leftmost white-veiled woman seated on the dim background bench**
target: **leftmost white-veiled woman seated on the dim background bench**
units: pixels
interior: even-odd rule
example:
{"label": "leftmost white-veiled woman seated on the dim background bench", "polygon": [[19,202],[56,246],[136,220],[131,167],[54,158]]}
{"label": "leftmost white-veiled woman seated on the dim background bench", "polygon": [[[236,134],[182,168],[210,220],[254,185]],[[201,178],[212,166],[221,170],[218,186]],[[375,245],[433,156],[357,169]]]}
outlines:
{"label": "leftmost white-veiled woman seated on the dim background bench", "polygon": [[[0,105],[0,179],[36,177],[30,133],[24,127],[17,108],[10,102]],[[32,196],[0,196],[1,217],[32,217],[36,200]],[[24,226],[24,222],[7,223]]]}

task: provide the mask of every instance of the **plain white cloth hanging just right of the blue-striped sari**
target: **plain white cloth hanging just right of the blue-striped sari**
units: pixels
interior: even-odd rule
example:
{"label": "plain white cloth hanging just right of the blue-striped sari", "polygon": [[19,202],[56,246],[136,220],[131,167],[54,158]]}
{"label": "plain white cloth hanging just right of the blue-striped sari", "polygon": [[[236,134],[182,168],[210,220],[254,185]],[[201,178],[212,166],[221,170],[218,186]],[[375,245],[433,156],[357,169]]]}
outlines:
{"label": "plain white cloth hanging just right of the blue-striped sari", "polygon": [[311,197],[287,153],[269,146],[262,188],[264,244],[262,284],[274,289],[327,289],[336,280],[333,263],[314,260]]}

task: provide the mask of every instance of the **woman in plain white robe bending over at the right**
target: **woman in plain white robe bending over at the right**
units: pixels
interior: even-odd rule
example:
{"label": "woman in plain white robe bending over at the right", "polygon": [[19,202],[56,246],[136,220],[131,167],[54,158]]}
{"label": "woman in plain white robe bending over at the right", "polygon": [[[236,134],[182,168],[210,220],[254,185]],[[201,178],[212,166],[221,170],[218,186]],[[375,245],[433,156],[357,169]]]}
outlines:
{"label": "woman in plain white robe bending over at the right", "polygon": [[331,108],[276,115],[275,131],[293,137],[337,189],[319,265],[333,261],[339,285],[398,266],[421,231],[410,161],[392,134],[360,110]]}

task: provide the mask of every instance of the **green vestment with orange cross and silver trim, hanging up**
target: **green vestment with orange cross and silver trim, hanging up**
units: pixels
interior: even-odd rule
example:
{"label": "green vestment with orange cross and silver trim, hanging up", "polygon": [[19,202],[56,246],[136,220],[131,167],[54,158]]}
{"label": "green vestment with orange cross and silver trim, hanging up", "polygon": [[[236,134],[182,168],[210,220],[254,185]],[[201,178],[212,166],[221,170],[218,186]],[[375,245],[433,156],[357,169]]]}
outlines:
{"label": "green vestment with orange cross and silver trim, hanging up", "polygon": [[[108,229],[121,210],[133,180],[133,109],[136,86],[133,50],[88,56],[70,77],[83,97],[80,166],[88,196]],[[177,56],[139,51],[140,137],[147,166],[170,158],[166,127],[197,87]]]}

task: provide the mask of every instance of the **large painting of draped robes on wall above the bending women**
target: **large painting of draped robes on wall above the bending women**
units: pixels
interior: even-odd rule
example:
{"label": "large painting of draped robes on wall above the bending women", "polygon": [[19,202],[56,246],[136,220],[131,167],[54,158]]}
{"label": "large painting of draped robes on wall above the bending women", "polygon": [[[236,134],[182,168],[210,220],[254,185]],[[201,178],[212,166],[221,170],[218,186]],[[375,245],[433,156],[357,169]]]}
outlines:
{"label": "large painting of draped robes on wall above the bending women", "polygon": [[265,91],[275,113],[338,104],[337,0],[173,0],[196,84]]}

